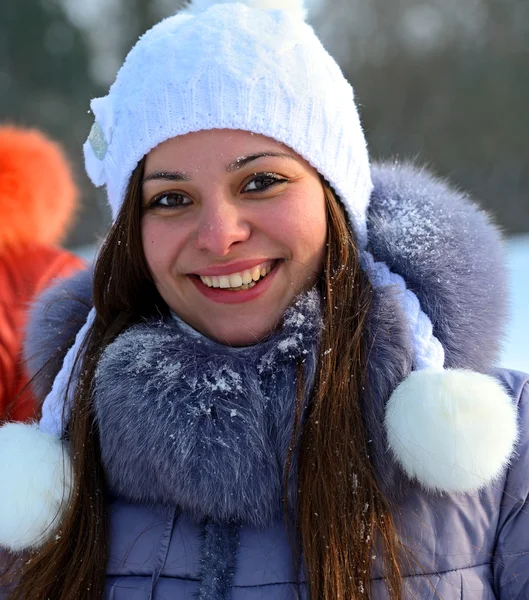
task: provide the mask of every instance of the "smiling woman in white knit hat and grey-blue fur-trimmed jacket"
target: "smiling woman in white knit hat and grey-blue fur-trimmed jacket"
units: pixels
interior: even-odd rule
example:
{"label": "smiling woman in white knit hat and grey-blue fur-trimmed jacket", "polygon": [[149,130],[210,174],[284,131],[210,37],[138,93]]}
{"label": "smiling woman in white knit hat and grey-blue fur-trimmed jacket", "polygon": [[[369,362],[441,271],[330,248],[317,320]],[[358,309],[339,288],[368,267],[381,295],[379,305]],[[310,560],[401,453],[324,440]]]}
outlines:
{"label": "smiling woman in white knit hat and grey-blue fur-trimmed jacket", "polygon": [[0,430],[0,542],[29,553],[11,598],[522,597],[497,232],[419,170],[370,169],[302,17],[197,0],[93,101],[114,223],[90,312],[46,313],[80,281],[36,309],[39,331],[86,319],[39,427]]}

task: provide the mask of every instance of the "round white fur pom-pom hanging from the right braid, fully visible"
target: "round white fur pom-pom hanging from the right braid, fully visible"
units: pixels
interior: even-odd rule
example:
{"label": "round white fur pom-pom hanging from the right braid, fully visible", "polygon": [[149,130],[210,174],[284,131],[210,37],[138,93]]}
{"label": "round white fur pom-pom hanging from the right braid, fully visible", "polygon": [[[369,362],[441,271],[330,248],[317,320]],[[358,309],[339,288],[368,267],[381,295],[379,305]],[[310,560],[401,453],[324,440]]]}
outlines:
{"label": "round white fur pom-pom hanging from the right braid, fully visible", "polygon": [[476,491],[497,479],[517,440],[517,410],[492,377],[414,371],[386,407],[389,447],[404,471],[436,492]]}

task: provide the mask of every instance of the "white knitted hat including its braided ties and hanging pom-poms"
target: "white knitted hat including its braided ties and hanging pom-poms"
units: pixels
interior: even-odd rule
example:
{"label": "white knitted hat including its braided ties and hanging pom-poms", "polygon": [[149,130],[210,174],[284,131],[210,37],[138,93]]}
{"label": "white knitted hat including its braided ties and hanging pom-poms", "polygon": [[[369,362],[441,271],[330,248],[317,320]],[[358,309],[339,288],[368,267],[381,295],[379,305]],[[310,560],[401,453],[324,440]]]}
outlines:
{"label": "white knitted hat including its braided ties and hanging pom-poms", "polygon": [[[444,348],[416,295],[368,252],[372,184],[353,91],[304,14],[302,0],[194,0],[160,22],[131,50],[108,95],[92,101],[86,169],[95,185],[106,185],[115,219],[137,163],[174,136],[242,129],[305,158],[345,206],[371,283],[393,286],[408,320],[415,371],[391,396],[385,419],[395,459],[430,490],[477,490],[508,464],[516,408],[494,379],[443,369]],[[12,550],[42,544],[60,523],[71,489],[59,442],[71,408],[66,388],[94,318],[92,309],[39,428],[0,428],[0,481],[10,490],[0,494],[0,545]]]}

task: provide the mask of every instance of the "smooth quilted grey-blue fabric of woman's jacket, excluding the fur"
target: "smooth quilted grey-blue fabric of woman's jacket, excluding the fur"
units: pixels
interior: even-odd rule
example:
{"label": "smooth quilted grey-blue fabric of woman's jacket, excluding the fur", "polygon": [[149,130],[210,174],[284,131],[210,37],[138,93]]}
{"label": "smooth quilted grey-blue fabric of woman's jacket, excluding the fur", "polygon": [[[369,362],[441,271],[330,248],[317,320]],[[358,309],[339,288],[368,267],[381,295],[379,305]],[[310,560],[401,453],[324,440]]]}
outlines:
{"label": "smooth quilted grey-blue fabric of woman's jacket, excluding the fur", "polygon": [[[529,431],[529,376],[501,371]],[[405,598],[529,598],[529,436],[506,477],[474,495],[414,494],[398,507],[403,536],[417,564],[404,571]],[[194,598],[203,527],[175,509],[150,509],[113,499],[108,600]],[[262,531],[243,527],[233,600],[291,600],[295,573],[283,522]],[[386,598],[374,561],[372,598]]]}

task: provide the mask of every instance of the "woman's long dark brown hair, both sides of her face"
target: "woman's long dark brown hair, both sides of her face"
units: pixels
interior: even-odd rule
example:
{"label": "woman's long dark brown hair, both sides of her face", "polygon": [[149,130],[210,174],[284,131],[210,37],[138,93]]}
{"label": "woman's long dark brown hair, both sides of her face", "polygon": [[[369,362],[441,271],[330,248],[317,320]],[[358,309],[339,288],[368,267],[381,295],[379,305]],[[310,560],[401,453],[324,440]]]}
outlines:
{"label": "woman's long dark brown hair, both sides of her face", "polygon": [[[84,345],[67,429],[74,477],[70,502],[58,534],[9,565],[9,579],[16,582],[10,600],[103,597],[109,540],[105,477],[92,410],[94,374],[103,350],[117,335],[140,319],[168,310],[141,243],[143,167],[142,161],[131,177],[94,270],[97,317]],[[398,540],[369,460],[360,401],[371,288],[359,268],[343,208],[324,187],[328,219],[320,283],[324,330],[310,409],[303,421],[297,421],[299,553],[310,598],[355,600],[370,597],[376,542],[385,557],[390,598],[400,600]]]}

